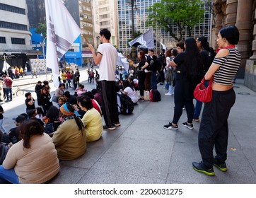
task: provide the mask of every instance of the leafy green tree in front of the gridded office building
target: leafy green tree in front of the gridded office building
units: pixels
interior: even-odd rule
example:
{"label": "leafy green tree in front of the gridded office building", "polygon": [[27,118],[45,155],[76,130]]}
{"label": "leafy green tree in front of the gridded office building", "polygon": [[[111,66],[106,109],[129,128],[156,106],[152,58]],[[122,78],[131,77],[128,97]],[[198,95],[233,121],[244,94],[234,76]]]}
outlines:
{"label": "leafy green tree in front of the gridded office building", "polygon": [[[165,28],[175,40],[182,40],[182,33],[187,30],[191,37],[192,28],[204,19],[202,0],[162,0],[149,7],[149,26]],[[173,30],[173,25],[178,31]]]}

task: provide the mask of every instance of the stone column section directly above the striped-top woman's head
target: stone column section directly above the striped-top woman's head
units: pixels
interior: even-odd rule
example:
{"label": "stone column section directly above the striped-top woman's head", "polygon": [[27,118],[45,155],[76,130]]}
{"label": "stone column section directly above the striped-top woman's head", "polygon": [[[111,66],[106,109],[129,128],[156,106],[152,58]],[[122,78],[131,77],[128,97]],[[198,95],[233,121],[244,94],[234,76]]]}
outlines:
{"label": "stone column section directly above the striped-top woman's head", "polygon": [[235,25],[237,10],[238,10],[238,0],[226,1],[226,26]]}

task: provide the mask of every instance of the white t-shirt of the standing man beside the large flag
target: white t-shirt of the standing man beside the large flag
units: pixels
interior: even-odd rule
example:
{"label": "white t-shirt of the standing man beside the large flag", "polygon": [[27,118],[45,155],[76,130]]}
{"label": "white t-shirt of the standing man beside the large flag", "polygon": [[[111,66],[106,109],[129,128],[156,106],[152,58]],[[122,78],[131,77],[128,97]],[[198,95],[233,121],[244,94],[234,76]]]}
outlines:
{"label": "white t-shirt of the standing man beside the large flag", "polygon": [[100,61],[100,81],[115,81],[117,50],[110,43],[105,42],[99,45],[98,53],[103,55]]}

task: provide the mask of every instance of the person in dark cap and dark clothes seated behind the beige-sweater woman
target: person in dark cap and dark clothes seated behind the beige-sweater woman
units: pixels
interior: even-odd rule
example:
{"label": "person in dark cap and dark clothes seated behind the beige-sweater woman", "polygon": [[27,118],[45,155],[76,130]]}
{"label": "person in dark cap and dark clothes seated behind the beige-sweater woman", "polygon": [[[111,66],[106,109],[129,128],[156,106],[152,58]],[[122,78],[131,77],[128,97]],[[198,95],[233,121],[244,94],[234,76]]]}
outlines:
{"label": "person in dark cap and dark clothes seated behind the beige-sweater woman", "polygon": [[16,142],[20,141],[21,138],[20,132],[18,132],[18,127],[23,121],[27,120],[27,118],[24,115],[18,115],[18,117],[14,117],[13,120],[15,120],[16,127],[11,128],[9,132],[3,134],[2,136],[2,142],[5,142],[7,144],[10,142],[15,144]]}

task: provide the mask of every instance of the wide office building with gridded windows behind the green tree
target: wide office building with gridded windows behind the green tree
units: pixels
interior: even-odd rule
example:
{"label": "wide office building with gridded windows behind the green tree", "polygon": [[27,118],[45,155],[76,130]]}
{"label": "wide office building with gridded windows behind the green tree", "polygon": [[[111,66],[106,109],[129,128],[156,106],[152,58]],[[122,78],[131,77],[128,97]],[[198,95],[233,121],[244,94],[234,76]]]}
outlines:
{"label": "wide office building with gridded windows behind the green tree", "polygon": [[[206,10],[204,21],[200,21],[199,25],[192,30],[192,37],[204,35],[209,37],[211,33],[211,13],[209,7],[206,6],[207,0],[204,1],[204,8]],[[125,54],[129,55],[130,47],[128,40],[132,39],[132,7],[129,6],[129,0],[118,0],[118,31],[119,31],[119,48]],[[153,4],[161,2],[161,0],[134,0],[134,32],[145,33],[149,28],[146,25],[148,19],[148,8]],[[173,31],[178,33],[178,28],[173,25]],[[170,36],[164,28],[153,28],[153,36],[155,40],[155,50],[161,51],[161,44],[163,42],[167,47],[175,47],[176,41]],[[188,33],[184,33],[184,38],[188,37]]]}

